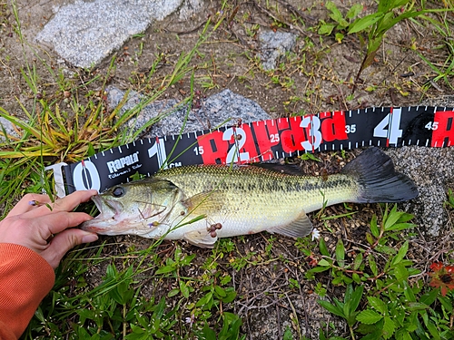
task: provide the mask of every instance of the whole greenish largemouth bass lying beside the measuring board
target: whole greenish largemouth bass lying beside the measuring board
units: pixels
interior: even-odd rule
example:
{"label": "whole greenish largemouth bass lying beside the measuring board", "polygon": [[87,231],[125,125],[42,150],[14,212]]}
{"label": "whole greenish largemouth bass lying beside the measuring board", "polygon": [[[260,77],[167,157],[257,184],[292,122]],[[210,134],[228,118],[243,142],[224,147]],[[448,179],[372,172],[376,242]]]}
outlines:
{"label": "whole greenish largemouth bass lying beside the measuring board", "polygon": [[84,230],[105,235],[185,239],[212,248],[217,238],[267,230],[292,238],[311,233],[307,213],[341,202],[400,202],[418,196],[407,176],[377,148],[339,174],[311,177],[260,166],[202,165],[162,170],[92,199],[99,216]]}

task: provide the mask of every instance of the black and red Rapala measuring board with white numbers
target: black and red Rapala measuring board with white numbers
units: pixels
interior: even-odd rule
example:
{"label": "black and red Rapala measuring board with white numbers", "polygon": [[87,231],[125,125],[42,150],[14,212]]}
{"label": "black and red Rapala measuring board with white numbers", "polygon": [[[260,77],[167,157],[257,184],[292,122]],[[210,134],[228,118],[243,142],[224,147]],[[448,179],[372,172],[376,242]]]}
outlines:
{"label": "black and red Rapala measuring board with white numbers", "polygon": [[454,145],[454,111],[440,107],[370,108],[253,121],[214,131],[195,131],[133,141],[54,170],[58,196],[79,189],[103,191],[151,176],[161,168],[276,160],[305,152],[359,147]]}

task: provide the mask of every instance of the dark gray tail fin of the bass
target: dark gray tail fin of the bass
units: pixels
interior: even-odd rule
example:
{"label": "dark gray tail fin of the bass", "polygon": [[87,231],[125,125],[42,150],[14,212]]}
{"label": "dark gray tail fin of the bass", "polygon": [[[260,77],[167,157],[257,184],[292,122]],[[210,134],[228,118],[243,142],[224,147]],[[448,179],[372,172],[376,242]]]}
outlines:
{"label": "dark gray tail fin of the bass", "polygon": [[396,172],[390,157],[378,148],[363,151],[341,172],[360,183],[358,203],[401,202],[418,196],[413,181]]}

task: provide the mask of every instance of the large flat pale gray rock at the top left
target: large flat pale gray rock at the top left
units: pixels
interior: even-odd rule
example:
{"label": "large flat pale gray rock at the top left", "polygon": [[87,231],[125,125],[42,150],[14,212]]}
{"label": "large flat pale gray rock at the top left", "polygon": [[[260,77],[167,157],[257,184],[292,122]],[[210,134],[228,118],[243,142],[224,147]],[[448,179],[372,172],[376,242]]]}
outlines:
{"label": "large flat pale gray rock at the top left", "polygon": [[[182,15],[202,8],[202,0],[76,0],[55,8],[54,18],[36,35],[50,43],[64,60],[79,67],[101,62],[133,34],[143,32],[153,20],[163,20],[184,2]],[[192,11],[192,12],[191,12]]]}

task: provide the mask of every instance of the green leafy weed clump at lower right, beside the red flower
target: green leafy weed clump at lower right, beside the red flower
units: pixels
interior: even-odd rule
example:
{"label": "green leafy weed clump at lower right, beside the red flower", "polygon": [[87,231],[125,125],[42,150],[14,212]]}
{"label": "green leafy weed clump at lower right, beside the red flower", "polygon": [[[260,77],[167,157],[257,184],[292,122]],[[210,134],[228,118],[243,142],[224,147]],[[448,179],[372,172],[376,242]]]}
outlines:
{"label": "green leafy weed clump at lower right, beside the red flower", "polygon": [[[431,268],[429,289],[421,279],[411,282],[410,277],[420,277],[419,269],[406,258],[410,242],[400,243],[400,247],[390,247],[388,243],[397,238],[397,230],[412,228],[408,223],[411,216],[394,208],[385,207],[380,228],[377,218],[370,221],[370,233],[366,234],[369,248],[355,251],[350,263],[346,262],[345,248],[338,241],[333,256],[321,239],[322,258],[318,267],[308,275],[330,270],[332,283],[347,285],[344,301],[333,298],[333,304],[320,300],[319,304],[336,316],[341,316],[350,329],[350,338],[356,339],[448,339],[453,336],[449,328],[454,288],[451,280],[452,267],[434,264]],[[378,256],[385,258],[378,262]],[[363,290],[364,285],[367,289]],[[436,300],[442,306],[439,311]],[[363,304],[360,304],[363,301]],[[360,308],[360,309],[359,309]],[[321,338],[326,338],[322,335]]]}

